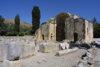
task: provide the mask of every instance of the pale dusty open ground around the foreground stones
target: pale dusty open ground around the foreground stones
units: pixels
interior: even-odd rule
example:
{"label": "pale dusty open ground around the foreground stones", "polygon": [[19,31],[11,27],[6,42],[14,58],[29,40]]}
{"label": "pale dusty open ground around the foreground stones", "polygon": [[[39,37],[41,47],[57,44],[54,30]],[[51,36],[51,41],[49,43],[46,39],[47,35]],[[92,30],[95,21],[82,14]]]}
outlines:
{"label": "pale dusty open ground around the foreground stones", "polygon": [[[100,39],[94,40],[100,43]],[[87,52],[86,49],[79,49],[76,52],[58,57],[55,56],[56,52],[41,53],[38,52],[38,49],[37,46],[35,56],[20,59],[22,67],[73,67],[81,60],[81,56]],[[100,61],[99,57],[100,49],[98,50],[98,54],[94,57],[94,61]],[[3,67],[3,62],[0,62],[0,67]]]}

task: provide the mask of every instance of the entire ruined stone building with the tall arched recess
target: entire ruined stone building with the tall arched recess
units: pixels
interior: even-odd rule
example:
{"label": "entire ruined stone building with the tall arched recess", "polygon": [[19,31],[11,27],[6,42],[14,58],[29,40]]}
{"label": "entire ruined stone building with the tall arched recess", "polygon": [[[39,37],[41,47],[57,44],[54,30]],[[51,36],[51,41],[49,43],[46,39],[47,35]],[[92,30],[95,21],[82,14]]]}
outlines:
{"label": "entire ruined stone building with the tall arched recess", "polygon": [[34,40],[91,42],[93,24],[76,14],[61,12],[55,18],[49,18],[49,22],[42,23],[35,33]]}

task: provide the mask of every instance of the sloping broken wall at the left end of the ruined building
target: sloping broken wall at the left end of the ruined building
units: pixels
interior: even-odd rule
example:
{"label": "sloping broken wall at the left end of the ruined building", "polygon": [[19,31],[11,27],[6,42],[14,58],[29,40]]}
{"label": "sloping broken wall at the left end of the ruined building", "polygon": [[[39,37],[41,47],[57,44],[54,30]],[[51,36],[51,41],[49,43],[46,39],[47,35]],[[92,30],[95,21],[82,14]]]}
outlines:
{"label": "sloping broken wall at the left end of the ruined building", "polygon": [[49,39],[49,23],[45,22],[39,27],[35,33],[34,40],[48,40]]}

